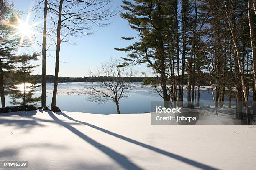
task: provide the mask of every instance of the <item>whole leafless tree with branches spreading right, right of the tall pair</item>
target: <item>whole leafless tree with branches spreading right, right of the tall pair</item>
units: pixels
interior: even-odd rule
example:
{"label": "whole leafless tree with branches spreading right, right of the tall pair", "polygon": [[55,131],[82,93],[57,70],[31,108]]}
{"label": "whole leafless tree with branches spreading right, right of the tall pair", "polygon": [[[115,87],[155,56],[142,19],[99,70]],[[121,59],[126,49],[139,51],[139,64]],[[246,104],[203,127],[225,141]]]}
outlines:
{"label": "whole leafless tree with branches spreading right, right of the tall pair", "polygon": [[115,10],[111,11],[110,1],[48,0],[48,10],[54,23],[54,33],[57,37],[51,107],[56,105],[61,42],[69,36],[90,35],[92,34],[90,30],[95,26],[106,25],[105,20],[115,15]]}

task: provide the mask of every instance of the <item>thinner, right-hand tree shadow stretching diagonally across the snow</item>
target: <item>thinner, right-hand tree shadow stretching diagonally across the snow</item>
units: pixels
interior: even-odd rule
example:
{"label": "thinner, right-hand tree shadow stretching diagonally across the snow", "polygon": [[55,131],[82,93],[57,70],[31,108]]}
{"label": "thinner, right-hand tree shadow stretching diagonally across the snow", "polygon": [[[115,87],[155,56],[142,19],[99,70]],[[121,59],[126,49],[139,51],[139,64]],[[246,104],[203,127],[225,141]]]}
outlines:
{"label": "thinner, right-hand tree shadow stretching diagonally across the snow", "polygon": [[127,141],[127,142],[130,142],[130,143],[139,145],[139,146],[141,146],[141,147],[147,148],[147,149],[149,149],[149,150],[153,150],[153,151],[155,151],[155,152],[157,152],[157,153],[160,153],[160,154],[162,154],[162,155],[166,155],[166,156],[168,156],[168,157],[170,157],[170,158],[174,158],[174,159],[176,159],[176,160],[182,161],[182,162],[184,162],[184,163],[187,163],[187,164],[189,164],[189,165],[195,166],[195,167],[197,167],[197,168],[201,168],[201,169],[203,169],[203,170],[219,170],[219,169],[217,169],[217,168],[213,168],[213,167],[210,167],[210,166],[208,166],[208,165],[199,163],[199,162],[197,162],[197,161],[195,161],[195,160],[190,160],[190,159],[188,159],[188,158],[185,158],[185,157],[176,155],[176,154],[174,154],[174,153],[170,153],[170,152],[167,152],[167,151],[165,151],[165,150],[161,150],[161,149],[156,148],[156,147],[154,147],[154,146],[147,145],[147,144],[145,144],[145,143],[141,143],[141,142],[139,142],[139,141],[137,141],[137,140],[133,140],[133,139],[131,139],[131,138],[127,138],[127,137],[125,137],[125,136],[123,136],[123,135],[119,135],[119,134],[117,134],[117,133],[113,133],[113,132],[111,132],[111,131],[109,131],[109,130],[100,128],[100,127],[95,126],[95,125],[92,125],[92,124],[90,124],[90,123],[82,122],[82,121],[79,121],[79,120],[75,120],[75,119],[73,119],[72,117],[69,117],[68,115],[66,115],[65,113],[62,113],[62,115],[63,115],[64,117],[68,118],[69,120],[73,120],[73,121],[75,121],[75,122],[79,122],[79,123],[81,123],[81,124],[90,126],[90,127],[92,127],[92,128],[95,128],[95,129],[97,129],[97,130],[100,130],[100,131],[102,131],[102,132],[104,132],[104,133],[107,133],[107,134],[109,134],[109,135],[115,136],[115,137],[120,138],[120,139],[123,139],[123,140],[125,140],[125,141]]}

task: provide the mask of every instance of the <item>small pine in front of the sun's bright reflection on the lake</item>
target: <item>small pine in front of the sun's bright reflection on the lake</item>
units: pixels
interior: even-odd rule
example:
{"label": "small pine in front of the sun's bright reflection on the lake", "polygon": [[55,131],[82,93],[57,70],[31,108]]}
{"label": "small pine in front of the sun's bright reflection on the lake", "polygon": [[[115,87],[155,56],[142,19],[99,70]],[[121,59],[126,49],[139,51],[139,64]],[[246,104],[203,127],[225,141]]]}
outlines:
{"label": "small pine in front of the sun's bright reflection on the lake", "polygon": [[11,104],[36,104],[41,101],[41,97],[33,97],[36,87],[40,87],[37,84],[38,79],[36,75],[31,75],[31,72],[38,65],[31,65],[30,60],[36,60],[38,55],[20,55],[20,64],[17,64],[12,77],[13,87],[10,88],[10,97],[12,99]]}

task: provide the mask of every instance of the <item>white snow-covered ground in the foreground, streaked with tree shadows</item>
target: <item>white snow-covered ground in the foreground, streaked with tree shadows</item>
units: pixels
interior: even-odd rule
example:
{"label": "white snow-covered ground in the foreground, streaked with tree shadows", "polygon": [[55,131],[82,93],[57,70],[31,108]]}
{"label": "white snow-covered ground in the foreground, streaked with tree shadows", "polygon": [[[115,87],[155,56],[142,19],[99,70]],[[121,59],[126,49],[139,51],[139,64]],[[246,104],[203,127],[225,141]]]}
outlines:
{"label": "white snow-covered ground in the foreground, streaked with tree shadows", "polygon": [[255,126],[151,126],[150,113],[58,115],[37,110],[0,114],[0,129],[0,161],[28,161],[22,169],[256,167]]}

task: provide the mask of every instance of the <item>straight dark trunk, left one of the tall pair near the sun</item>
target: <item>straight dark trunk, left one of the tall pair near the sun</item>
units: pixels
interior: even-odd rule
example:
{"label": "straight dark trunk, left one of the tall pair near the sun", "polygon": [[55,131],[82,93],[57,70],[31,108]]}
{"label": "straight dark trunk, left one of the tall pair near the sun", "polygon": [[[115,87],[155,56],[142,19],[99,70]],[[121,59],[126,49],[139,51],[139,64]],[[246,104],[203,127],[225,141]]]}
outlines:
{"label": "straight dark trunk, left one of the tall pair near the sun", "polygon": [[47,0],[44,0],[44,28],[42,44],[42,96],[41,106],[46,107],[46,23],[47,22]]}

